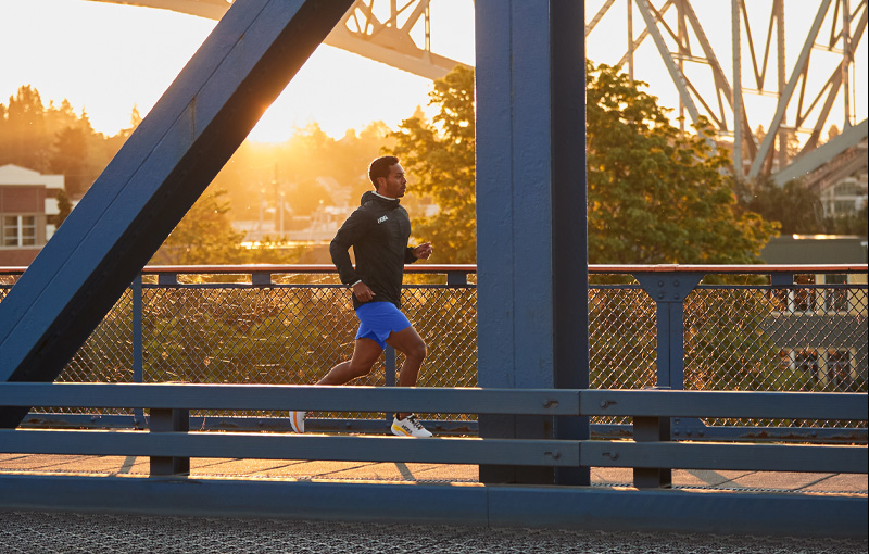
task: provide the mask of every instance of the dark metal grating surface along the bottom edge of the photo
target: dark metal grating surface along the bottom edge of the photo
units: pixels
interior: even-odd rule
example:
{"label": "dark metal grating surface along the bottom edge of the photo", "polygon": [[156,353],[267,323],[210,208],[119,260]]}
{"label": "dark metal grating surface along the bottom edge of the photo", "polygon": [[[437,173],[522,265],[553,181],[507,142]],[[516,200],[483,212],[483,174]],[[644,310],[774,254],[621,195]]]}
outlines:
{"label": "dark metal grating surface along the bottom edge of the photo", "polygon": [[[288,502],[290,500],[288,499]],[[852,554],[858,539],[0,513],[0,553]]]}

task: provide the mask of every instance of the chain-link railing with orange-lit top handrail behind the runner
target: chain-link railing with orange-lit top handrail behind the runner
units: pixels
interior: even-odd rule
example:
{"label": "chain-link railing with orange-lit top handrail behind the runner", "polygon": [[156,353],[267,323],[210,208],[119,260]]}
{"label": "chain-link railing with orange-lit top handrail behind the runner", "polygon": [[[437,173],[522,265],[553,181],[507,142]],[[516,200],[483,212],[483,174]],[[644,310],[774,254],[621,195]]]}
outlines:
{"label": "chain-link railing with orange-lit top handrail behind the runner", "polygon": [[[0,269],[0,299],[22,269]],[[867,391],[867,266],[591,266],[596,389]],[[476,267],[408,266],[403,307],[429,344],[423,387],[476,387]],[[352,351],[355,320],[331,266],[148,267],[70,362],[63,382],[310,385]],[[390,386],[389,349],[358,385]],[[280,412],[197,411],[197,428],[288,428]],[[476,415],[425,414],[441,433]],[[141,410],[34,410],[27,425],[141,427]],[[382,430],[323,412],[315,430]],[[595,437],[630,420],[592,418]],[[675,438],[866,442],[866,421],[676,417]]]}

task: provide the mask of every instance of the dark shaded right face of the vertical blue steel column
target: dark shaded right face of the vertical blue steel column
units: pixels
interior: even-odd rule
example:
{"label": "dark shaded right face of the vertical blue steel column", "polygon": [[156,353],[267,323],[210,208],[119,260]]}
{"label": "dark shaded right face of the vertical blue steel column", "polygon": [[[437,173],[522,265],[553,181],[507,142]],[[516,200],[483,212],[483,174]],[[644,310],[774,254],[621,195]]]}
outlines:
{"label": "dark shaded right face of the vertical blue steel column", "polygon": [[[589,388],[589,249],[585,215],[585,2],[550,2],[552,55],[552,290],[555,387]],[[558,439],[591,437],[588,417],[558,417]],[[558,484],[589,484],[588,467],[558,468]]]}

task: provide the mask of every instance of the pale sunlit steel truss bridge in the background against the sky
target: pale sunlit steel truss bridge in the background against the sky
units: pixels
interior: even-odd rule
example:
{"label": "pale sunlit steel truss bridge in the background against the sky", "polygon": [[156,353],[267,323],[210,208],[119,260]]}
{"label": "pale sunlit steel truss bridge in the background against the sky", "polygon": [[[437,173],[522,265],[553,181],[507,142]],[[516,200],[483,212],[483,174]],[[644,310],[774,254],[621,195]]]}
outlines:
{"label": "pale sunlit steel truss bridge in the background against the sky", "polygon": [[[93,1],[160,8],[214,20],[222,17],[231,4],[230,0]],[[595,29],[599,34],[612,34],[612,26],[599,25],[604,18],[621,20],[627,49],[613,64],[625,67],[631,78],[642,71],[637,66],[635,53],[645,39],[651,38],[678,91],[679,115],[684,117],[681,121],[696,123],[704,116],[713,123],[719,141],[741,144],[741,148],[733,148],[733,165],[739,175],[754,179],[789,168],[792,162],[801,159],[799,167],[791,167],[783,175],[805,175],[843,151],[843,155],[853,156],[853,147],[866,139],[866,131],[858,129],[856,141],[852,133],[848,140],[840,140],[847,144],[828,149],[832,158],[805,159],[805,154],[820,146],[821,133],[831,125],[842,131],[855,125],[866,128],[855,121],[854,90],[866,86],[865,68],[856,67],[855,52],[862,45],[868,2],[769,0],[769,13],[763,20],[755,7],[746,9],[745,0],[731,0],[730,52],[722,52],[721,45],[714,47],[710,42],[692,0],[603,0],[593,14],[587,8],[585,37],[593,38]],[[442,77],[459,62],[431,51],[430,3],[430,0],[356,0],[325,42],[427,78]],[[796,32],[785,24],[785,8],[789,7],[798,10],[799,17],[815,10],[814,23],[806,36],[791,36]],[[642,21],[642,24],[634,28],[634,21]],[[758,34],[758,28],[765,30]],[[449,29],[443,32],[449,33]],[[420,35],[421,45],[414,38]],[[803,43],[793,64],[785,58],[785,41]],[[613,43],[608,37],[608,46]],[[833,52],[841,61],[832,67],[829,63],[813,65],[814,51]],[[722,53],[728,54],[731,62],[730,78],[719,62]],[[607,54],[589,47],[589,55],[595,61],[604,61],[595,56]],[[698,67],[705,67],[706,75],[696,76]],[[733,71],[734,67],[740,71]],[[772,71],[774,76],[770,75]],[[748,76],[745,83],[743,74]],[[823,86],[817,89],[816,83],[823,83]],[[652,93],[660,96],[654,89]],[[746,95],[774,97],[777,105],[772,118],[746,108]],[[839,116],[833,114],[836,103],[844,106]],[[763,140],[752,133],[758,126],[766,133]],[[788,143],[793,138],[799,142],[797,152],[789,152]]]}

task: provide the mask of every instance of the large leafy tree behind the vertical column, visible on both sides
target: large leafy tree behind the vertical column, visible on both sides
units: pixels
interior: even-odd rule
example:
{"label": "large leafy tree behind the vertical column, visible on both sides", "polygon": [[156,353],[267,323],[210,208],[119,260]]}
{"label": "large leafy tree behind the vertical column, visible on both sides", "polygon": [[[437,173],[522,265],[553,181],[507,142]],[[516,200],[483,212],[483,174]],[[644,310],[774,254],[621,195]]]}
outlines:
{"label": "large leafy tree behind the vertical column, visible on both sides", "polygon": [[[721,264],[759,261],[774,225],[741,209],[701,123],[675,127],[657,99],[606,65],[587,66],[589,257],[596,264]],[[395,153],[414,190],[440,207],[415,224],[436,244],[438,262],[473,262],[476,253],[473,70],[434,81],[433,122],[405,119]]]}

